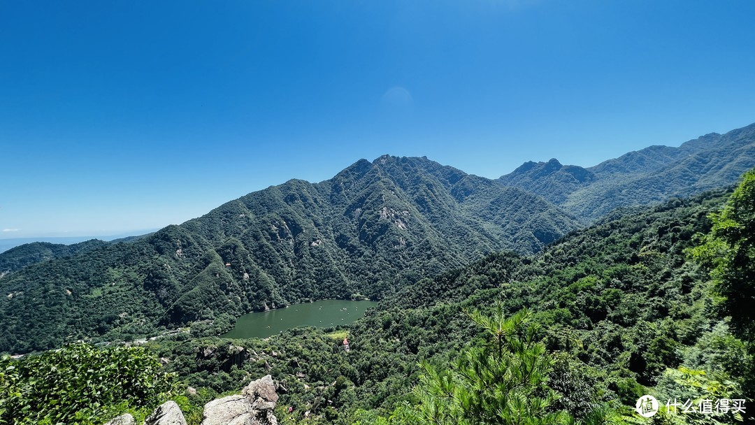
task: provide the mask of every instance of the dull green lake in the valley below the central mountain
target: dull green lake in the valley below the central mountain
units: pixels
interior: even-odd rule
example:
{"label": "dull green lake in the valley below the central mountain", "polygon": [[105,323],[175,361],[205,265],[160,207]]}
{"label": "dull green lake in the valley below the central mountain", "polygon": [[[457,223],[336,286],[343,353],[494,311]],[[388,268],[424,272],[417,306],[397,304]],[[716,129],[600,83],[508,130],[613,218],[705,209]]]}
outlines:
{"label": "dull green lake in the valley below the central mountain", "polygon": [[286,308],[260,313],[248,313],[236,319],[236,327],[223,338],[265,338],[299,326],[346,325],[365,315],[365,310],[377,306],[373,301],[322,300],[293,304]]}

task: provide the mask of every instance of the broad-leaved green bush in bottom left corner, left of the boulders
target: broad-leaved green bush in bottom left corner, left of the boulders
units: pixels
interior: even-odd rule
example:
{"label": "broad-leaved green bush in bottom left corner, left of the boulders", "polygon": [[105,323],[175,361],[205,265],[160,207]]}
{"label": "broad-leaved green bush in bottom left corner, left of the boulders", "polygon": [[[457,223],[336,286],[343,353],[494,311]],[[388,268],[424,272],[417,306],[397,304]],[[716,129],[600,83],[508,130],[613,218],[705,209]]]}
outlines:
{"label": "broad-leaved green bush in bottom left corner, left of the boulders", "polygon": [[0,359],[0,423],[104,423],[143,417],[174,392],[174,375],[143,347],[76,343],[18,361]]}

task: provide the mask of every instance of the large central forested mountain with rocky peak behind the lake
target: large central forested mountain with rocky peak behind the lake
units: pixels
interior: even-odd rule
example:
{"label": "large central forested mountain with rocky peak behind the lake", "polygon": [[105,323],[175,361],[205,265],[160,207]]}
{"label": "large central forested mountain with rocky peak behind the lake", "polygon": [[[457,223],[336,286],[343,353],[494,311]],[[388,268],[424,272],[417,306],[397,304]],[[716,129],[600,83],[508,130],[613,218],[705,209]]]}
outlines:
{"label": "large central forested mountain with rocky peak behind the lake", "polygon": [[361,160],[291,180],[134,242],[0,279],[0,352],[135,337],[303,300],[374,297],[578,223],[541,197],[424,158]]}

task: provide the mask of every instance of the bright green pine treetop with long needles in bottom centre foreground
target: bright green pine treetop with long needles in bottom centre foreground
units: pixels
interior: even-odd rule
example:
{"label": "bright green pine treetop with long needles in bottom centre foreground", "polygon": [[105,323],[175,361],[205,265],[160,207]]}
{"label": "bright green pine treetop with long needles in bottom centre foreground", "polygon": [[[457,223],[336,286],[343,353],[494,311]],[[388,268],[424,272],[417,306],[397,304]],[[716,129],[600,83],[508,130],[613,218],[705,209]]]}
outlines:
{"label": "bright green pine treetop with long needles in bottom centre foreground", "polygon": [[565,414],[548,411],[557,399],[545,385],[552,359],[535,342],[527,310],[506,319],[498,304],[491,317],[469,316],[487,340],[462,353],[451,369],[424,365],[415,423],[563,423]]}

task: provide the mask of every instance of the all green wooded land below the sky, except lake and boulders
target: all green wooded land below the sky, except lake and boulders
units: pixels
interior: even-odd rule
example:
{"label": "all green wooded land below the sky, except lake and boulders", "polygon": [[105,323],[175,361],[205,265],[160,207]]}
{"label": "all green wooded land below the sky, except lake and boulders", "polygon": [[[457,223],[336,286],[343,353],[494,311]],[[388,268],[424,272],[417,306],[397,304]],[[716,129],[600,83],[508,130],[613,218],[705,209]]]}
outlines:
{"label": "all green wooded land below the sky, except lake and boulders", "polygon": [[[737,180],[753,146],[755,125],[498,180],[382,156],[138,238],[13,248],[0,423],[142,420],[172,399],[198,425],[267,374],[280,423],[753,422],[755,171],[682,197]],[[330,297],[380,303],[352,325],[217,336]]]}

